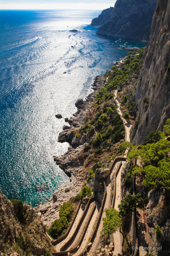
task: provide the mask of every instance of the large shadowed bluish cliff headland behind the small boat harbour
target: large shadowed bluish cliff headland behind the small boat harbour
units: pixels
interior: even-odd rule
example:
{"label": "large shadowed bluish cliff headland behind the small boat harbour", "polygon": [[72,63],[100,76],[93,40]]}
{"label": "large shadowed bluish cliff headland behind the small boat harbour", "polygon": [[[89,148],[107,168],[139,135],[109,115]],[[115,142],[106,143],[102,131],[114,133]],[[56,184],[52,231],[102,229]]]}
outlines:
{"label": "large shadowed bluish cliff headland behind the small boat harbour", "polygon": [[117,0],[111,18],[97,34],[149,40],[157,0]]}

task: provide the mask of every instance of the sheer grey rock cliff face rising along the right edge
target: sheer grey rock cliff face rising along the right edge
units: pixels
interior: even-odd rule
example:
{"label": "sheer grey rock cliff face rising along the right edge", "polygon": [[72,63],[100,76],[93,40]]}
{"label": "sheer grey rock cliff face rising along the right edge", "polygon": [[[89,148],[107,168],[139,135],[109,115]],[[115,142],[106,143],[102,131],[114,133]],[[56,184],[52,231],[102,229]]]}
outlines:
{"label": "sheer grey rock cliff face rising along the right edge", "polygon": [[143,54],[134,100],[138,113],[131,141],[141,143],[150,131],[163,131],[170,118],[170,0],[158,0],[153,15],[150,42]]}

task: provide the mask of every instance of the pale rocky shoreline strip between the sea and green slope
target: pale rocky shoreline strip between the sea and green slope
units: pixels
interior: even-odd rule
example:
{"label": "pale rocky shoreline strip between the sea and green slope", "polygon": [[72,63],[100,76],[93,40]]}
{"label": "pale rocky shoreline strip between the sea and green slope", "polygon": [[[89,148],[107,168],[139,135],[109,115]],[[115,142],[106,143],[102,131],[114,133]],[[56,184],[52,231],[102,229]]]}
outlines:
{"label": "pale rocky shoreline strip between the sea and green slope", "polygon": [[63,202],[68,201],[81,191],[86,177],[86,174],[83,172],[84,159],[81,159],[81,157],[79,157],[79,160],[74,158],[87,145],[89,138],[83,131],[81,131],[81,136],[76,137],[75,132],[77,129],[81,129],[88,121],[86,120],[86,115],[90,111],[90,106],[93,104],[98,90],[104,86],[104,75],[96,76],[92,86],[91,89],[94,92],[90,93],[85,101],[82,99],[76,101],[77,112],[70,119],[65,118],[66,125],[63,125],[63,131],[59,133],[59,142],[70,143],[68,151],[62,156],[53,156],[56,164],[69,175],[70,183],[67,185],[63,184],[54,192],[48,202],[34,208],[44,225],[48,227],[56,218],[59,218],[59,209]]}

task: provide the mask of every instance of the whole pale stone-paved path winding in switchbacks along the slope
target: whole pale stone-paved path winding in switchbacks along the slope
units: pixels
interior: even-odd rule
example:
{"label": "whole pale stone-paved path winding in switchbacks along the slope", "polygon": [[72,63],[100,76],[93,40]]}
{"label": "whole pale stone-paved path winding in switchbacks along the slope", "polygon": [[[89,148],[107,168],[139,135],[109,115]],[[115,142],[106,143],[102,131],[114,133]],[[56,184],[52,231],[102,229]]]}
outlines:
{"label": "whole pale stone-paved path winding in switchbacks along the slope", "polygon": [[[114,91],[115,97],[117,96],[117,90]],[[130,142],[130,128],[132,127],[132,124],[130,124],[130,122],[127,122],[122,115],[124,114],[121,106],[120,106],[120,102],[118,100],[116,100],[116,104],[119,106],[119,108],[117,109],[117,113],[120,114],[121,119],[123,121],[124,127],[125,127],[125,140]],[[96,248],[99,245],[99,241],[100,241],[100,236],[101,236],[101,231],[103,229],[103,218],[106,217],[106,213],[105,210],[111,208],[111,179],[113,177],[113,175],[116,172],[116,180],[115,180],[115,196],[114,196],[114,202],[112,207],[114,207],[115,210],[119,211],[118,209],[118,205],[121,203],[121,172],[122,172],[122,168],[124,163],[126,163],[126,155],[127,155],[127,150],[124,153],[125,158],[123,158],[123,161],[121,161],[120,159],[117,159],[117,161],[115,161],[115,163],[113,164],[113,166],[111,167],[110,170],[110,174],[104,179],[104,182],[106,183],[106,197],[105,199],[103,199],[103,212],[100,221],[99,221],[99,225],[97,228],[97,232],[96,232],[96,236],[94,238],[90,246],[89,249],[89,255],[94,255]],[[93,208],[95,207],[94,211]],[[91,215],[90,213],[93,211],[93,214]],[[84,255],[86,255],[85,252],[85,248],[88,244],[88,241],[91,237],[91,234],[93,233],[93,229],[94,229],[94,225],[96,222],[96,219],[98,217],[99,214],[99,205],[97,201],[93,201],[91,202],[91,204],[89,205],[89,208],[87,210],[87,213],[85,214],[85,216],[82,218],[83,216],[83,210],[80,207],[79,212],[76,216],[76,219],[74,220],[73,226],[71,228],[71,230],[69,231],[67,237],[65,239],[63,239],[61,242],[59,242],[58,244],[56,244],[55,246],[55,250],[58,253],[58,255],[64,255],[63,253],[66,253],[70,250],[72,250],[73,248],[76,248],[76,246],[79,244],[79,246],[77,247],[77,250],[74,250],[74,255],[75,256],[79,256],[82,253]],[[91,216],[89,219],[88,216]],[[79,225],[79,222],[81,221],[81,226],[80,228],[77,228],[77,226]],[[86,232],[83,232],[86,223],[89,222],[89,225],[87,227]],[[80,238],[82,238],[82,242],[80,243]],[[70,240],[70,243],[69,243]],[[120,232],[120,230],[118,230],[116,233],[113,234],[113,240],[114,240],[114,253],[113,255],[122,255],[122,234]],[[65,245],[65,246],[64,246]],[[61,252],[60,252],[61,250]]]}

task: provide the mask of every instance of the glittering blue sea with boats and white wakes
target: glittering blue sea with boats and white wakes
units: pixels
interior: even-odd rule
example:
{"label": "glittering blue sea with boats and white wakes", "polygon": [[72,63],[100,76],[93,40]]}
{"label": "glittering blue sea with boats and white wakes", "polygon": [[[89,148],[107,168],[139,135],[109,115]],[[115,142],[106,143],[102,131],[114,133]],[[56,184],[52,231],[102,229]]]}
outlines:
{"label": "glittering blue sea with boats and white wakes", "polygon": [[[89,24],[99,14],[0,10],[0,189],[9,199],[37,206],[70,181],[53,161],[69,146],[57,142],[64,118],[90,93],[94,76],[127,53],[123,40],[96,35]],[[49,189],[36,191],[40,185]]]}

